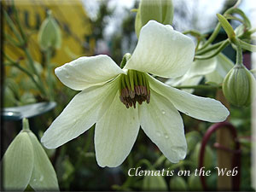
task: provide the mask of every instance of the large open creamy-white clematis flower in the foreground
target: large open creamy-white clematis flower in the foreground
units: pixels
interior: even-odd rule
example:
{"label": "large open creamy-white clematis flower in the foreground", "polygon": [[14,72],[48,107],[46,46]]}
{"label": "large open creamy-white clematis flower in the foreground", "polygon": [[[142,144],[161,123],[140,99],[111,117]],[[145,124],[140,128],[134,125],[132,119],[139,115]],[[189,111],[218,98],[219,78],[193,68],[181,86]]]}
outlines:
{"label": "large open creamy-white clematis flower in the foreground", "polygon": [[98,165],[119,166],[141,125],[168,160],[183,160],[187,143],[178,110],[211,122],[224,121],[229,111],[216,100],[174,89],[148,73],[181,76],[189,69],[194,51],[190,38],[150,20],[124,69],[108,55],[81,57],[56,68],[63,84],[82,91],[44,132],[41,142],[46,148],[57,148],[96,123]]}

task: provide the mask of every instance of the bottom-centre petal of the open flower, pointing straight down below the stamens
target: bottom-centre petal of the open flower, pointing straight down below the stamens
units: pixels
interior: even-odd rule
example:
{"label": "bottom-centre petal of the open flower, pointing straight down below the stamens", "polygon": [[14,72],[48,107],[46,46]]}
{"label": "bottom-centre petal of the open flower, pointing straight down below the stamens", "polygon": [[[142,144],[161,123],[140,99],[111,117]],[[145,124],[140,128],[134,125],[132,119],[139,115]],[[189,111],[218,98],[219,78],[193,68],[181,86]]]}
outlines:
{"label": "bottom-centre petal of the open flower, pointing straight down below the stamens", "polygon": [[99,166],[119,166],[131,151],[139,131],[137,108],[125,108],[119,93],[96,122],[95,149]]}

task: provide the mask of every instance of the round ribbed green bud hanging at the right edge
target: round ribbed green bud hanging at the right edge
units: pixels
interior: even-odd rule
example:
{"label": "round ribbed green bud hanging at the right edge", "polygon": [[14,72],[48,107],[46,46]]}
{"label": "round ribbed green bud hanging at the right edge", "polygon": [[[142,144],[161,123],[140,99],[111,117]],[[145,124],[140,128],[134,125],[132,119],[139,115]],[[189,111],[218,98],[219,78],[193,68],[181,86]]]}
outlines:
{"label": "round ribbed green bud hanging at the right edge", "polygon": [[236,64],[224,79],[224,96],[237,107],[248,106],[255,96],[255,84],[247,68]]}

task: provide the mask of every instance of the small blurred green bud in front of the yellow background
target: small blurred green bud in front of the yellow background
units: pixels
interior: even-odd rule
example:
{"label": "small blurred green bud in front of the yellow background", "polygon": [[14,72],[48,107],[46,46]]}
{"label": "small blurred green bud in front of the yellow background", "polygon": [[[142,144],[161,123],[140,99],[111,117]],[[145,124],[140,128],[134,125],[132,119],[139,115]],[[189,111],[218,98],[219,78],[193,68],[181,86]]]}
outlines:
{"label": "small blurred green bud in front of the yellow background", "polygon": [[61,29],[50,11],[48,11],[47,15],[38,32],[38,43],[43,50],[49,48],[59,49],[61,47]]}

